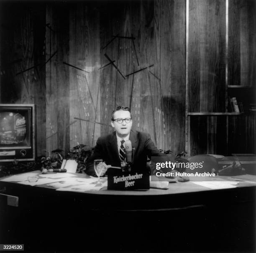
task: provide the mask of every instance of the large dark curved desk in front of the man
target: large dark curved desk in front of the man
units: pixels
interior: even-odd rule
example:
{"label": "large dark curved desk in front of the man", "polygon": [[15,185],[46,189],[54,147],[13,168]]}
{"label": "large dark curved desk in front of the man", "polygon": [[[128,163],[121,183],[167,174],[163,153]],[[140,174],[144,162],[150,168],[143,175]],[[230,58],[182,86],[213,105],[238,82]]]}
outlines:
{"label": "large dark curved desk in front of the man", "polygon": [[19,206],[2,198],[0,243],[23,243],[31,252],[255,249],[255,184],[77,193],[0,181],[4,187]]}

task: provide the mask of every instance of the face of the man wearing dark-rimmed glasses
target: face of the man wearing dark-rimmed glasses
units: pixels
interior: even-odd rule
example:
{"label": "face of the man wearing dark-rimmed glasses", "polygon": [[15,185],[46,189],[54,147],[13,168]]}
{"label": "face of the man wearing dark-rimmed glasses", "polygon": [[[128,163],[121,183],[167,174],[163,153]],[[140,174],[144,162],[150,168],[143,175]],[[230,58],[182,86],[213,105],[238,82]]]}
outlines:
{"label": "face of the man wearing dark-rimmed glasses", "polygon": [[125,120],[123,120],[123,123],[119,124],[116,120],[131,118],[131,113],[129,111],[119,110],[114,113],[113,118],[115,121],[111,121],[111,125],[113,126],[113,128],[115,128],[116,133],[120,137],[125,137],[126,135],[128,135],[131,131],[133,121],[131,120],[129,123],[126,123]]}

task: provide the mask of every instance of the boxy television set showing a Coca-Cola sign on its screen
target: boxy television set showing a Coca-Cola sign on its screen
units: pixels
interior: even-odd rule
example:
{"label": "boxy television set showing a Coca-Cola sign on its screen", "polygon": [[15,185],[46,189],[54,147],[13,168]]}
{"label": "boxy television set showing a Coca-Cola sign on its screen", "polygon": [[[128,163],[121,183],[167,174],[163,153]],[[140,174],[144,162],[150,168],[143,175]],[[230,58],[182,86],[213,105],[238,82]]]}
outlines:
{"label": "boxy television set showing a Coca-Cola sign on its screen", "polygon": [[36,157],[35,105],[0,104],[0,162]]}

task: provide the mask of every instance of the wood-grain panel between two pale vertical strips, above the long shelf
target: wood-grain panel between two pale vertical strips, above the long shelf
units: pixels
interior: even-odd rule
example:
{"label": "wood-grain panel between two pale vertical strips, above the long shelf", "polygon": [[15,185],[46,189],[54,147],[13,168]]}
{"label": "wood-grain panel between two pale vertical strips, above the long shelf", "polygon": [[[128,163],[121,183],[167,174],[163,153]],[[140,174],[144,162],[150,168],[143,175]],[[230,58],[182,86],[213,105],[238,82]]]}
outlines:
{"label": "wood-grain panel between two pale vertical strips, above the long shelf", "polygon": [[225,111],[225,0],[189,1],[189,111]]}

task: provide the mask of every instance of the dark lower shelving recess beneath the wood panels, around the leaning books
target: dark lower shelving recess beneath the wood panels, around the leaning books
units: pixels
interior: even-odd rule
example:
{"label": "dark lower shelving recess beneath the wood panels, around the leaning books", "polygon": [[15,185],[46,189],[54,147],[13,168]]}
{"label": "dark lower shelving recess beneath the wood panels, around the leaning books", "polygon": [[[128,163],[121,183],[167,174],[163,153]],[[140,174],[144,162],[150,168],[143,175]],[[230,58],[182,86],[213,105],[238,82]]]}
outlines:
{"label": "dark lower shelving recess beneath the wood panels, around the leaning books", "polygon": [[234,96],[243,103],[244,112],[231,112],[229,105],[225,112],[188,112],[188,155],[256,152],[256,113],[249,110],[256,103],[256,88],[238,85],[227,88],[226,105],[228,96]]}

